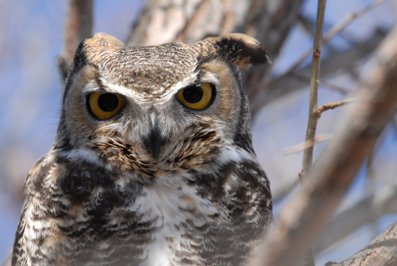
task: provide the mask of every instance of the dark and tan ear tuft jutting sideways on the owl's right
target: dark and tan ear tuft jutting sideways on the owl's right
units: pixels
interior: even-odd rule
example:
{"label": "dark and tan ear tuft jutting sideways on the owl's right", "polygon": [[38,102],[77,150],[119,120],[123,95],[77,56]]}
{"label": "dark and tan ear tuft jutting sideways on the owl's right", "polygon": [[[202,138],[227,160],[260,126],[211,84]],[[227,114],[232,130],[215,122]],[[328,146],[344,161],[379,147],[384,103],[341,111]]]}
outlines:
{"label": "dark and tan ear tuft jutting sideways on the owl's right", "polygon": [[271,63],[265,46],[255,38],[242,33],[231,33],[206,39],[215,46],[217,53],[226,56],[242,68],[251,65]]}

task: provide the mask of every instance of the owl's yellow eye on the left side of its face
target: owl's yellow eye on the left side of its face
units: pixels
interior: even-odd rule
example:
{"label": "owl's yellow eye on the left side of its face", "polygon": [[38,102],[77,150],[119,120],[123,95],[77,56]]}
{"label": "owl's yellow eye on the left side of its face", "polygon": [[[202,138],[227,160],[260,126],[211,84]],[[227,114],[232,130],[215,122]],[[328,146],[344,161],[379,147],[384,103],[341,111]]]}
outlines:
{"label": "owl's yellow eye on the left side of its face", "polygon": [[88,98],[91,112],[100,119],[116,114],[124,105],[123,98],[114,93],[92,93]]}

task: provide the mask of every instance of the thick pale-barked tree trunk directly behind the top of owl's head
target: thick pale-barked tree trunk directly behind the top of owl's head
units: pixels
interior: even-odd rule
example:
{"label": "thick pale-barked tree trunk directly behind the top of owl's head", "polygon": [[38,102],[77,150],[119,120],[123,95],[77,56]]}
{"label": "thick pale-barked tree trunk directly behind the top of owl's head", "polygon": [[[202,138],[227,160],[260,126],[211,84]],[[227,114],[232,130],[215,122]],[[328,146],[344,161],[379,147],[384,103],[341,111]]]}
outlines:
{"label": "thick pale-barked tree trunk directly behind the top of owl's head", "polygon": [[263,42],[274,55],[295,22],[301,2],[146,0],[127,45],[194,43],[208,36],[242,32]]}

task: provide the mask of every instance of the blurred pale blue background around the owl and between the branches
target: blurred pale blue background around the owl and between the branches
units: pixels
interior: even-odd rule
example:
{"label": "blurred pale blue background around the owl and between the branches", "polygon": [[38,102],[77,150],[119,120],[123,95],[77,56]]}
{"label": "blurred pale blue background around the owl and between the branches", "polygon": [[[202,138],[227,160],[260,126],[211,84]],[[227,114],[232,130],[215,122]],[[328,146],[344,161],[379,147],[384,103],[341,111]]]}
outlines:
{"label": "blurred pale blue background around the owl and between the branches", "polygon": [[[347,14],[362,10],[373,2],[328,1],[325,31]],[[11,252],[24,199],[22,187],[26,175],[35,161],[49,151],[56,133],[62,77],[55,59],[62,50],[67,3],[66,0],[0,0],[0,264]],[[106,32],[127,41],[143,4],[141,0],[94,1],[93,32]],[[286,71],[313,46],[316,12],[317,0],[303,1],[299,18],[288,32],[279,56],[272,58],[272,76]],[[354,94],[363,65],[376,44],[396,23],[396,14],[396,1],[386,1],[355,19],[324,47],[322,68],[332,63],[325,61],[330,54],[331,57],[344,51],[361,51],[362,54],[349,69],[334,69],[322,76],[319,105]],[[304,61],[301,69],[310,62],[311,58]],[[299,90],[271,101],[260,108],[254,117],[254,148],[271,182],[275,213],[299,187],[296,181],[303,155],[299,144],[303,143],[306,134],[308,85],[309,79],[301,77],[296,83]],[[347,107],[338,107],[322,114],[317,127],[319,143],[315,145],[315,156],[324,148],[327,139],[332,138],[337,121]],[[364,212],[364,216],[360,216],[363,212],[357,213],[356,219],[364,221],[352,225],[354,230],[343,233],[343,238],[337,237],[329,241],[331,243],[323,243],[319,239],[321,248],[316,248],[316,245],[314,248],[317,265],[350,257],[397,220],[394,209],[396,199],[389,201],[388,198],[386,203],[383,199],[388,193],[396,192],[396,180],[395,119],[383,132],[370,160],[362,166],[335,216],[346,210],[359,210],[360,204],[368,201],[392,207],[384,208],[386,210],[382,213],[373,214],[370,210]],[[371,215],[374,217],[367,219]],[[340,232],[345,224],[339,225],[336,228]],[[331,232],[328,234],[335,235]],[[324,238],[327,239],[327,235]]]}

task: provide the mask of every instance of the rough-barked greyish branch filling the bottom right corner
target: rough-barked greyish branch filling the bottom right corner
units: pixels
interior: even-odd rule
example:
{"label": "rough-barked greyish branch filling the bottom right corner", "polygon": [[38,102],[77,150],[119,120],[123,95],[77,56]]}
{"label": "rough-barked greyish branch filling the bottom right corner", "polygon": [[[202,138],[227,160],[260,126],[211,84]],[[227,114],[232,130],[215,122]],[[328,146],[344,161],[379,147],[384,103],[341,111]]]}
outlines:
{"label": "rough-barked greyish branch filling the bottom right corner", "polygon": [[341,263],[329,262],[325,266],[393,266],[397,265],[397,222],[366,247]]}

